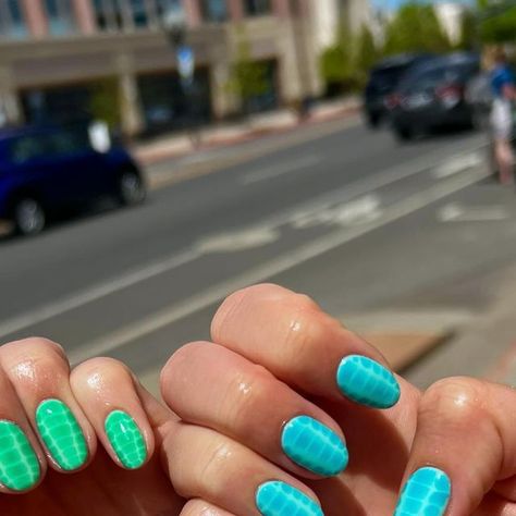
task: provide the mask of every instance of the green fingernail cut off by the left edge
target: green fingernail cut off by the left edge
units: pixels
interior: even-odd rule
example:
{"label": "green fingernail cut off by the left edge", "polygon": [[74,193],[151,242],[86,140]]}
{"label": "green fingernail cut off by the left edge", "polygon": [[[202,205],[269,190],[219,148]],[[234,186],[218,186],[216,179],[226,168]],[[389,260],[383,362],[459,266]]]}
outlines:
{"label": "green fingernail cut off by the left edge", "polygon": [[0,483],[12,491],[36,486],[39,462],[22,429],[10,421],[0,421]]}

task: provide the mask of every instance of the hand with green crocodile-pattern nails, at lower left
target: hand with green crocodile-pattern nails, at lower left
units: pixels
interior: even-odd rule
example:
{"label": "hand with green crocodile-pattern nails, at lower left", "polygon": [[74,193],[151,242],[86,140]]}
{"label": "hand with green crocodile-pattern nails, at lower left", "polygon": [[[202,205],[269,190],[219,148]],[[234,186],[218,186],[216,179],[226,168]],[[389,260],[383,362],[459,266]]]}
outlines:
{"label": "hand with green crocodile-pattern nails, at lower left", "polygon": [[124,365],[71,372],[59,345],[20,341],[0,347],[0,392],[2,516],[181,513],[155,454],[176,418]]}

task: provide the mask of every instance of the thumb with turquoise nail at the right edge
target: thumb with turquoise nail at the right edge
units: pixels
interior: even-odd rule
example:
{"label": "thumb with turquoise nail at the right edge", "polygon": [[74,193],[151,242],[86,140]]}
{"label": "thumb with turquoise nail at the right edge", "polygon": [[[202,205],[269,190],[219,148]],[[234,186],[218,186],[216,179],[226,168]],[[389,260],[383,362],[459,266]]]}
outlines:
{"label": "thumb with turquoise nail at the right edge", "polygon": [[515,407],[516,393],[502,385],[466,378],[432,385],[396,516],[474,514],[496,481],[516,474]]}

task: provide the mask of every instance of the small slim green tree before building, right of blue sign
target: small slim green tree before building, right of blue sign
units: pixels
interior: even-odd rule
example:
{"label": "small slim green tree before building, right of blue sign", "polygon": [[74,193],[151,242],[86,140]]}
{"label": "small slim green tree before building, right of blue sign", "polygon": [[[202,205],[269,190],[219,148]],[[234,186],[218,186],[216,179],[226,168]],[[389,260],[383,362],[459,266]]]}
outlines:
{"label": "small slim green tree before building, right of blue sign", "polygon": [[249,40],[245,29],[237,27],[236,60],[231,70],[228,88],[236,94],[242,102],[242,108],[247,111],[249,101],[269,90],[267,64],[253,61]]}

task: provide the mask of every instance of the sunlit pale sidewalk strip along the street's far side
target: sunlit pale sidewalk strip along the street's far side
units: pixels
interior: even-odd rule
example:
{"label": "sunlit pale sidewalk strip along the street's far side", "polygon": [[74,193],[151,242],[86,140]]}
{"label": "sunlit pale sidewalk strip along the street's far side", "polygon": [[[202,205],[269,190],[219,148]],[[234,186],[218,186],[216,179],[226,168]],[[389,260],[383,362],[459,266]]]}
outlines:
{"label": "sunlit pale sidewalk strip along the street's far side", "polygon": [[306,120],[294,111],[282,109],[250,116],[245,122],[221,123],[200,130],[200,146],[193,145],[188,133],[174,133],[133,146],[133,153],[144,165],[193,153],[199,149],[230,146],[254,138],[293,131],[300,125],[316,124],[356,114],[361,107],[357,96],[317,103]]}

